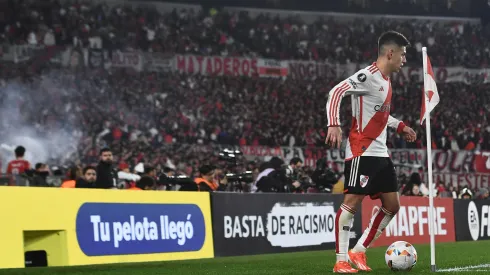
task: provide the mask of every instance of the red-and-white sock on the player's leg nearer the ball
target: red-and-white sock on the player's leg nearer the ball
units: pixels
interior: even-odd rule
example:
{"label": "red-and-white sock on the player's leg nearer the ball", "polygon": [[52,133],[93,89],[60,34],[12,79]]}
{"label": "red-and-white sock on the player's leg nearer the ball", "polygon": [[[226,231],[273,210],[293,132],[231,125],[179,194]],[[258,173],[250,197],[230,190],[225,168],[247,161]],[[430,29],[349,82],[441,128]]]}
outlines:
{"label": "red-and-white sock on the player's leg nearer the ball", "polygon": [[366,249],[381,236],[381,233],[383,233],[383,230],[388,226],[394,216],[393,213],[381,207],[371,218],[369,226],[364,230],[364,233],[352,251],[366,252]]}

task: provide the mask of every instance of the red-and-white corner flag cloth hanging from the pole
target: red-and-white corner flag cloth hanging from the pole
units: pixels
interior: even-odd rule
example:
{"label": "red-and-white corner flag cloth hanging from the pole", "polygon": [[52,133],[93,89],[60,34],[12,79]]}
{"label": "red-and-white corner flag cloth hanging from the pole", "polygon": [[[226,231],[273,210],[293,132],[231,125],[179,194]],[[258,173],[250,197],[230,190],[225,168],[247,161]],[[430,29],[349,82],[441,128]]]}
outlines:
{"label": "red-and-white corner flag cloth hanging from the pole", "polygon": [[[422,91],[422,107],[420,108],[420,125],[424,123],[425,112],[430,112],[439,103],[439,93],[437,92],[436,78],[434,77],[434,71],[432,71],[432,65],[427,54],[424,54],[424,90]],[[426,106],[428,102],[428,106]]]}

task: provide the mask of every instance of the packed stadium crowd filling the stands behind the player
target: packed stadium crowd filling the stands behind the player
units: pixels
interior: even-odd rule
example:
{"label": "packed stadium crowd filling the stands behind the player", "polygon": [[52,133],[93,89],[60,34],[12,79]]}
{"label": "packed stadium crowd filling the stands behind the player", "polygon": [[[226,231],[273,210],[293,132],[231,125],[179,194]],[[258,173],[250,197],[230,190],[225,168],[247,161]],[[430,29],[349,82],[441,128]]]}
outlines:
{"label": "packed stadium crowd filling the stands behind the player", "polygon": [[[57,1],[1,1],[4,44],[102,47],[200,55],[263,56],[330,63],[374,60],[376,37],[394,29],[412,41],[407,59],[421,63],[427,45],[435,66],[487,67],[490,25],[390,20],[307,24],[299,17],[193,9],[159,13],[131,6],[60,4]],[[340,79],[207,77],[126,69],[74,71],[50,63],[0,63],[0,140],[25,129],[71,144],[47,159],[59,165],[98,162],[109,147],[120,167],[140,162],[172,167],[195,176],[198,167],[218,162],[213,145],[324,146],[325,103]],[[420,83],[393,83],[392,115],[415,127]],[[438,86],[442,101],[433,114],[433,148],[490,150],[488,84]],[[457,104],[451,100],[457,99]],[[348,135],[349,100],[341,110]],[[406,144],[395,132],[390,148],[424,148],[424,139]],[[194,145],[191,145],[194,144]],[[196,146],[202,145],[202,146]],[[203,149],[204,148],[204,149]],[[68,154],[69,153],[69,154]],[[60,157],[60,155],[62,157]],[[53,156],[54,157],[54,156]],[[255,169],[241,163],[235,169]]]}

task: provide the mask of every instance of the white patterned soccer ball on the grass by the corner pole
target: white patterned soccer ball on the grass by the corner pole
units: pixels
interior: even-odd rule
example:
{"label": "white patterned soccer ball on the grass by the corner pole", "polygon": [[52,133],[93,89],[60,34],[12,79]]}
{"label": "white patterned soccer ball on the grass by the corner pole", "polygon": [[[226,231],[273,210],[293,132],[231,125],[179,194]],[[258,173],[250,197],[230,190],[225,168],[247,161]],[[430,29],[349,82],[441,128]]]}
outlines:
{"label": "white patterned soccer ball on the grass by the corner pole", "polygon": [[410,271],[417,263],[417,251],[410,243],[392,243],[385,253],[385,261],[393,271]]}

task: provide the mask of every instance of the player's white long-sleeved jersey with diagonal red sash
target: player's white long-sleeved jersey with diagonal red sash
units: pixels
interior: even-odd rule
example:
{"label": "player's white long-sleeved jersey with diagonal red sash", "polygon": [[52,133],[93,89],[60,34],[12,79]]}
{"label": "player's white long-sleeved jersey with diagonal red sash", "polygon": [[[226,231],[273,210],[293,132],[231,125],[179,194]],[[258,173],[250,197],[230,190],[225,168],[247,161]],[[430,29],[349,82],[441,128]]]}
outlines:
{"label": "player's white long-sleeved jersey with diagonal red sash", "polygon": [[373,63],[333,87],[327,101],[328,126],[340,125],[340,102],[346,95],[352,100],[352,127],[346,160],[358,156],[389,157],[386,127],[400,132],[405,126],[390,116],[392,90],[389,77]]}

